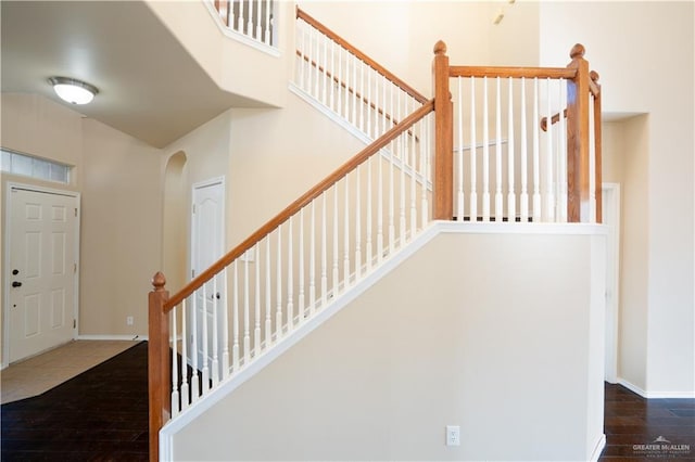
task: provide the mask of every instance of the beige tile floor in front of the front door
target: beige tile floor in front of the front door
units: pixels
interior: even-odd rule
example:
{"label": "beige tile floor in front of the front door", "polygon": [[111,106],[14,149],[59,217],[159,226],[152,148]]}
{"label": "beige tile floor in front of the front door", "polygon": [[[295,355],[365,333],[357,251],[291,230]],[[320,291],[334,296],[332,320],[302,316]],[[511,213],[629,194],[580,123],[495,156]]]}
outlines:
{"label": "beige tile floor in front of the front door", "polygon": [[0,372],[0,403],[40,395],[139,341],[73,341]]}

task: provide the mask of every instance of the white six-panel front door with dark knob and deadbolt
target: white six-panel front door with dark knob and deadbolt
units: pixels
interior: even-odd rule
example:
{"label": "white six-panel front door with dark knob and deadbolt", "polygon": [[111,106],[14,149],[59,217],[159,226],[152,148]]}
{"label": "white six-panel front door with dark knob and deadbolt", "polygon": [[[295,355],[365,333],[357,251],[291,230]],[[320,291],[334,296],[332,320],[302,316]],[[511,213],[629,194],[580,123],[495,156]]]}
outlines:
{"label": "white six-panel front door with dark knob and deadbolt", "polygon": [[79,195],[9,187],[8,361],[75,338]]}

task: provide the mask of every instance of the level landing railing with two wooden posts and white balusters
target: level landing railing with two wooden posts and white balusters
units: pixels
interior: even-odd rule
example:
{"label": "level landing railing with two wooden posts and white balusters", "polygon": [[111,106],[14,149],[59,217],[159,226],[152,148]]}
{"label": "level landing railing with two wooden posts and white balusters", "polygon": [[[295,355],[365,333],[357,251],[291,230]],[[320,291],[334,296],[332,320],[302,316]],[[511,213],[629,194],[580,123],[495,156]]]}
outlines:
{"label": "level landing railing with two wooden posts and white balusters", "polygon": [[555,68],[450,66],[443,42],[434,52],[434,217],[601,222],[601,87],[584,48]]}

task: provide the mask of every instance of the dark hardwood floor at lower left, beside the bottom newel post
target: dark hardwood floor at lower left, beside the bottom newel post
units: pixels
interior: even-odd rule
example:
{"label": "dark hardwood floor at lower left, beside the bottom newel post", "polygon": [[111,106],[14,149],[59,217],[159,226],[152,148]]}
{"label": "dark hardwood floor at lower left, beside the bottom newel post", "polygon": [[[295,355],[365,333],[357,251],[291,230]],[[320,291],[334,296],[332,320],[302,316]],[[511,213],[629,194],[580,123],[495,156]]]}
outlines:
{"label": "dark hardwood floor at lower left, beside the bottom newel post", "polygon": [[147,363],[142,342],[42,395],[3,405],[0,458],[147,461]]}

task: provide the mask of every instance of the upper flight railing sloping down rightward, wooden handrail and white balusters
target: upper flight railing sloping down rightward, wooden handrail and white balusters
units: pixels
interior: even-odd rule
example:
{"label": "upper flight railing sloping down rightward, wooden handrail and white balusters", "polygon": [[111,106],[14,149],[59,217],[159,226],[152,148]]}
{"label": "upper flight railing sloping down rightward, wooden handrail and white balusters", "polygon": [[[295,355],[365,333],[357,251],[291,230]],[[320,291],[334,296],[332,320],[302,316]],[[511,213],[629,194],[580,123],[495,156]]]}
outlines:
{"label": "upper flight railing sloping down rightward, wooden handrail and white balusters", "polygon": [[427,103],[403,79],[296,9],[295,84],[375,140]]}

